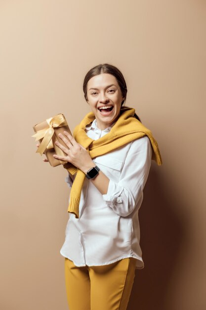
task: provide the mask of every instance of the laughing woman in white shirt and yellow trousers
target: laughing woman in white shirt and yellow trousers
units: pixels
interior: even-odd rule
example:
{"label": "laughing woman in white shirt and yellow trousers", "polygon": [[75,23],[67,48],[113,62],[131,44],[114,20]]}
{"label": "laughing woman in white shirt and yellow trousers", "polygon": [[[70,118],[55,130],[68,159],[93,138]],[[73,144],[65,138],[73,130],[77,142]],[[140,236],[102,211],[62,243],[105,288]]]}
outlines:
{"label": "laughing woman in white shirt and yellow trousers", "polygon": [[[70,310],[126,310],[135,268],[143,268],[138,209],[151,159],[161,155],[152,133],[125,107],[126,83],[110,64],[90,69],[83,82],[91,108],[59,142],[71,187],[61,255]],[[46,160],[45,160],[46,161]]]}

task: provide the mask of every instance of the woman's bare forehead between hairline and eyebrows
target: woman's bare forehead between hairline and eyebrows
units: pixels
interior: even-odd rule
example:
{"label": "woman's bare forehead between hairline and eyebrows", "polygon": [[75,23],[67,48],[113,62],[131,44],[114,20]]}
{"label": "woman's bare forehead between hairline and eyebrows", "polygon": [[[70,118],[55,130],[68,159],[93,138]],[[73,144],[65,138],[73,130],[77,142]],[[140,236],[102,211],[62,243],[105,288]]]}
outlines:
{"label": "woman's bare forehead between hairline and eyebrows", "polygon": [[112,74],[108,74],[108,73],[102,73],[102,74],[98,74],[93,76],[87,83],[87,89],[90,88],[105,88],[107,85],[111,85],[114,84],[117,87],[118,82],[116,80],[116,77]]}

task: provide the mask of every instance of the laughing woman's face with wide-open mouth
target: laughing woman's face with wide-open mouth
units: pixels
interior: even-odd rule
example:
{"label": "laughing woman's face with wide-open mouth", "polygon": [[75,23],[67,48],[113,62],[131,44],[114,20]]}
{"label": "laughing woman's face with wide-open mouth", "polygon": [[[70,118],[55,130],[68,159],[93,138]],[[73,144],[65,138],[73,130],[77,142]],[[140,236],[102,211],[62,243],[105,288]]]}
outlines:
{"label": "laughing woman's face with wide-open mouth", "polygon": [[97,127],[104,130],[118,119],[124,98],[114,75],[102,73],[88,81],[87,100]]}

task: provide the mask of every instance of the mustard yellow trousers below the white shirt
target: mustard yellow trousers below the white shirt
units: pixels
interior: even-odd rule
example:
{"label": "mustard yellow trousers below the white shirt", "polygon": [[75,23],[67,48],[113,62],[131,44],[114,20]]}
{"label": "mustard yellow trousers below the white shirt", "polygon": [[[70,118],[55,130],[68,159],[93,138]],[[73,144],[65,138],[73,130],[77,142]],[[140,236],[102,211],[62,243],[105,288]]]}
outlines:
{"label": "mustard yellow trousers below the white shirt", "polygon": [[135,258],[103,266],[77,267],[65,258],[70,310],[126,310],[135,276]]}

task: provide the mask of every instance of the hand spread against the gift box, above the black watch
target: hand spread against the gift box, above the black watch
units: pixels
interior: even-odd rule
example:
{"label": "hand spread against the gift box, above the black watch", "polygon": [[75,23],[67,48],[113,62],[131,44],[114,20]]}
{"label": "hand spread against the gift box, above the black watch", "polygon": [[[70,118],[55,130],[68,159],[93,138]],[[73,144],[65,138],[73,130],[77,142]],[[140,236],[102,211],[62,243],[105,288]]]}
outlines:
{"label": "hand spread against the gift box, above the black watch", "polygon": [[[65,137],[65,136],[66,137]],[[53,155],[54,158],[59,160],[69,161],[77,168],[81,169],[85,174],[91,168],[95,166],[89,153],[81,144],[79,144],[74,137],[72,137],[67,131],[64,131],[64,135],[59,134],[59,137],[64,141],[67,148],[61,143],[55,141],[55,144],[67,154],[67,156]]]}

